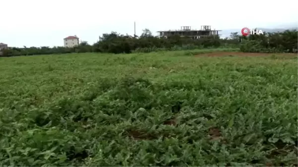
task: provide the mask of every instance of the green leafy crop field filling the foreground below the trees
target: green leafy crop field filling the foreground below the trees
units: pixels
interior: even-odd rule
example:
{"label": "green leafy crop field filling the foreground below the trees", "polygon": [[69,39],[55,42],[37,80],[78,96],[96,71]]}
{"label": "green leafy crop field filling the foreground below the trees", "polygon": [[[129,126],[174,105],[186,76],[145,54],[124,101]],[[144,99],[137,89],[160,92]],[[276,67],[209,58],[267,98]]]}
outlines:
{"label": "green leafy crop field filling the foreground below the trees", "polygon": [[0,58],[0,167],[298,166],[298,56]]}

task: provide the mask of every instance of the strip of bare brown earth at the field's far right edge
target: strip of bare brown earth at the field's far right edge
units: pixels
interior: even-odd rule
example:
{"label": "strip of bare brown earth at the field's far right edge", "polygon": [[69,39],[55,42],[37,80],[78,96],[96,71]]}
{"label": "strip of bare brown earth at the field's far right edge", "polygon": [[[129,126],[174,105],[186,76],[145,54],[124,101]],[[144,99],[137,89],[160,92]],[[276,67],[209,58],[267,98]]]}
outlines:
{"label": "strip of bare brown earth at the field's far right edge", "polygon": [[196,56],[298,56],[298,54],[262,54],[262,53],[243,53],[243,52],[213,52]]}

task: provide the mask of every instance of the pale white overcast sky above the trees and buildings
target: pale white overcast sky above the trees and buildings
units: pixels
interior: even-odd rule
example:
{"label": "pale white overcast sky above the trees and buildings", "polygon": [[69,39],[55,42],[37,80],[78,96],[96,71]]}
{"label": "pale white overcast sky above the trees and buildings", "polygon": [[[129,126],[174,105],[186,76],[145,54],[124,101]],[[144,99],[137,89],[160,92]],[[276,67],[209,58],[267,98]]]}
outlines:
{"label": "pale white overcast sky above the trees and buildings", "polygon": [[[0,43],[63,46],[76,35],[93,44],[103,33],[141,35],[211,25],[212,29],[283,28],[298,23],[296,0],[1,0]],[[291,4],[291,5],[289,5]],[[254,7],[253,7],[254,6]],[[253,7],[253,10],[250,8]]]}

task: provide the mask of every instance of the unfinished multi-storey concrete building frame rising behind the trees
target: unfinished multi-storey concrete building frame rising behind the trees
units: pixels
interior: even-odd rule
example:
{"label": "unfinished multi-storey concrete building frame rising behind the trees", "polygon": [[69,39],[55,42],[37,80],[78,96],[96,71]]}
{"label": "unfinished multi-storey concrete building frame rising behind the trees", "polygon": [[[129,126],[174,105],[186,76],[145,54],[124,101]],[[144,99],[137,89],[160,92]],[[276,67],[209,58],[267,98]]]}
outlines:
{"label": "unfinished multi-storey concrete building frame rising behind the trees", "polygon": [[179,35],[180,37],[191,37],[192,39],[200,39],[202,37],[217,36],[219,31],[222,30],[211,30],[211,26],[201,26],[201,30],[191,29],[191,26],[181,26],[179,30],[167,30],[167,31],[157,31],[159,37],[169,37],[174,35]]}

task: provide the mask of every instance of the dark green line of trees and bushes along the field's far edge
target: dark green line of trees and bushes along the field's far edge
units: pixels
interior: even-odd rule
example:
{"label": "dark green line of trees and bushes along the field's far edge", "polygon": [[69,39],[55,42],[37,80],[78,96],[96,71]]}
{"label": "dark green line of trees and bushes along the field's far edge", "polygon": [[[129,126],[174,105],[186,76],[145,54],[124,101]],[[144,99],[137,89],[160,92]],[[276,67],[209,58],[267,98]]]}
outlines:
{"label": "dark green line of trees and bushes along the field's far edge", "polygon": [[286,30],[284,32],[266,33],[263,35],[249,35],[248,37],[231,33],[229,38],[221,39],[219,36],[210,36],[201,39],[190,39],[180,36],[159,38],[145,29],[140,37],[123,35],[117,32],[103,34],[99,41],[93,45],[81,42],[74,48],[65,47],[23,47],[2,50],[1,56],[32,56],[67,53],[133,53],[154,52],[170,50],[189,50],[200,48],[240,48],[242,52],[250,53],[296,53],[298,52],[298,31]]}

